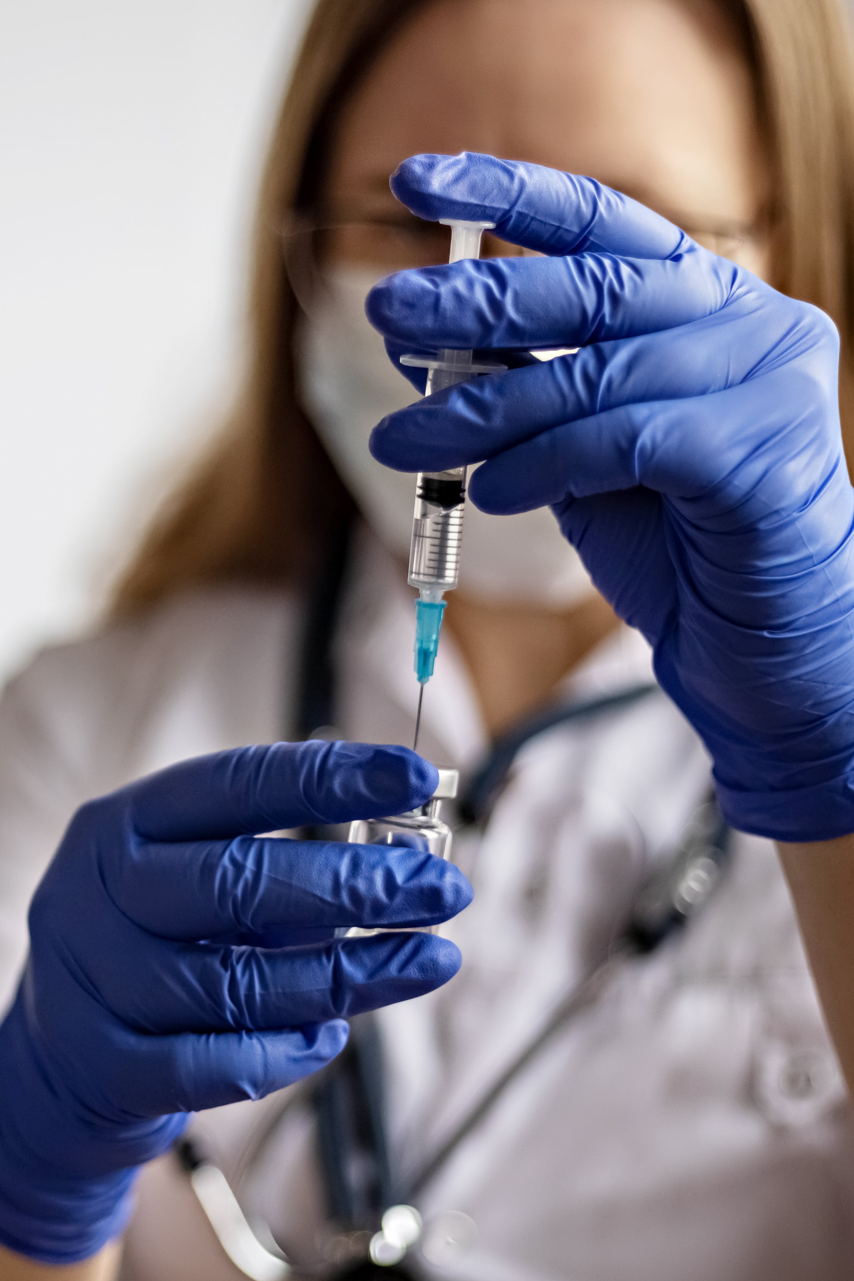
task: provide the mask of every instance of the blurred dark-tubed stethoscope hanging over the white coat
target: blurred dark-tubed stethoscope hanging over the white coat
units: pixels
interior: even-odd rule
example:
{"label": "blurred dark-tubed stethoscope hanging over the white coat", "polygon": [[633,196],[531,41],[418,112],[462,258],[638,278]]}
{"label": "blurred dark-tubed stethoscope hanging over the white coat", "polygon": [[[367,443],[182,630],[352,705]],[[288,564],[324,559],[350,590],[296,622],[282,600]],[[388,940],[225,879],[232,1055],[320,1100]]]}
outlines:
{"label": "blurred dark-tubed stethoscope hanging over the white coat", "polygon": [[[324,571],[309,596],[298,687],[297,725],[301,738],[316,737],[320,726],[324,726],[325,734],[334,722],[335,670],[332,652],[350,546],[351,526],[347,525],[334,539]],[[580,724],[617,712],[657,693],[661,694],[656,684],[636,684],[602,698],[551,707],[513,726],[493,743],[488,756],[466,781],[458,802],[460,825],[485,828],[519,751],[533,738],[558,725]],[[312,829],[305,835],[318,839],[324,833],[323,829]],[[362,1277],[380,1275],[410,1278],[420,1275],[419,1245],[424,1244],[424,1225],[416,1209],[420,1194],[484,1123],[506,1090],[577,1015],[595,1004],[616,975],[632,959],[654,952],[702,911],[714,893],[729,857],[730,829],[709,789],[671,860],[636,894],[626,922],[607,953],[557,1002],[535,1034],[484,1089],[420,1170],[408,1175],[394,1171],[389,1157],[383,1047],[376,1022],[370,1015],[352,1020],[343,1053],[303,1082],[301,1089],[284,1094],[280,1108],[273,1109],[242,1162],[243,1171],[247,1171],[260,1159],[296,1102],[311,1106],[328,1218],[334,1225],[328,1234],[324,1276],[361,1281]],[[254,1281],[306,1276],[288,1263],[269,1228],[257,1223],[250,1226],[225,1176],[192,1139],[179,1140],[175,1155],[220,1245],[241,1272]]]}

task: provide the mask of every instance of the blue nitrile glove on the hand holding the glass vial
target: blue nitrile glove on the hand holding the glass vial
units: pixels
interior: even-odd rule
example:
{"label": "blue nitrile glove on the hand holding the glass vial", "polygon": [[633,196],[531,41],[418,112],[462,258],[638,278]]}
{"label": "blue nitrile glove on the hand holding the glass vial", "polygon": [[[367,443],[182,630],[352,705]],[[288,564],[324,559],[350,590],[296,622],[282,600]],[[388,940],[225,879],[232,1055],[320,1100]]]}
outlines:
{"label": "blue nitrile glove on the hand holding the glass vial", "polygon": [[[457,948],[431,934],[332,942],[342,926],[453,916],[471,889],[451,863],[250,835],[399,813],[435,785],[402,747],[277,743],[184,761],[78,811],[0,1027],[4,1245],[45,1263],[96,1253],[124,1225],[134,1167],[189,1111],[300,1080],[342,1049],[344,1016],[456,974]],[[270,931],[279,947],[257,945]]]}

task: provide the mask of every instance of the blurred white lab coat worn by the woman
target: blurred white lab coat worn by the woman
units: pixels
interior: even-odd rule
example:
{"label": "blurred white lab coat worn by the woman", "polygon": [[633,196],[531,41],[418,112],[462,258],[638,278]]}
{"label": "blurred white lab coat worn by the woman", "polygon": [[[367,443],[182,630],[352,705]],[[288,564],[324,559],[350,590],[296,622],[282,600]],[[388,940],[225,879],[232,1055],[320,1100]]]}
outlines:
{"label": "blurred white lab coat worn by the woman", "polygon": [[[198,592],[50,649],[10,684],[0,706],[6,999],[26,951],[28,898],[76,806],[186,756],[287,737],[301,624],[287,593]],[[410,593],[364,535],[335,647],[348,738],[410,739],[411,644]],[[644,642],[624,629],[566,693],[586,698],[649,674]],[[485,747],[449,637],[426,690],[421,747],[463,769]],[[707,785],[703,748],[663,694],[522,749],[485,835],[457,840],[476,890],[446,927],[463,951],[461,974],[380,1016],[399,1168],[439,1145],[600,954]],[[192,1122],[230,1177],[275,1102]],[[306,1261],[318,1257],[323,1226],[312,1141],[297,1106],[241,1184],[247,1208]],[[736,838],[732,869],[704,913],[626,966],[511,1086],[419,1208],[437,1276],[850,1281],[848,1104],[768,842]],[[466,1216],[457,1245],[443,1235],[449,1213]],[[239,1276],[172,1157],[140,1181],[125,1275]]]}

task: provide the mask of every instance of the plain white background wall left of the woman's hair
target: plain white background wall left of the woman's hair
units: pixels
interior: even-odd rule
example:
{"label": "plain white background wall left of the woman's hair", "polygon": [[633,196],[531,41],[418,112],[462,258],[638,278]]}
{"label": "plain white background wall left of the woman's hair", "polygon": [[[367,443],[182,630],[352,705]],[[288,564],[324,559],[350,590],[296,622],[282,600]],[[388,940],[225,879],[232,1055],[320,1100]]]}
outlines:
{"label": "plain white background wall left of the woman's hair", "polygon": [[241,345],[309,0],[0,0],[0,678],[86,624]]}

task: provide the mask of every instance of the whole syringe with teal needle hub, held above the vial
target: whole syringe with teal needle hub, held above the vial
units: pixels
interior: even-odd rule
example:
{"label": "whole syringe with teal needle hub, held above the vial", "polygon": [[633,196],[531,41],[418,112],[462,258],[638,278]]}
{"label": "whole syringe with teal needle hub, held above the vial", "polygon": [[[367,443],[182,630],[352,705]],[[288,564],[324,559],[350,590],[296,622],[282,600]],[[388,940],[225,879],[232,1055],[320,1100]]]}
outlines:
{"label": "whole syringe with teal needle hub, held above the vial", "polygon": [[[455,218],[442,218],[451,228],[449,263],[480,256],[480,237],[494,223],[470,223]],[[455,383],[467,382],[478,374],[503,370],[504,365],[474,364],[471,351],[444,348],[435,359],[401,356],[402,365],[428,370],[425,395],[431,396]],[[443,596],[457,585],[460,547],[462,544],[462,514],[466,501],[466,468],[448,471],[419,471],[415,484],[415,515],[412,518],[412,543],[410,547],[411,587],[417,587],[415,602],[415,675],[421,690],[415,721],[415,746],[421,724],[424,687],[433,675],[439,630],[446,602]]]}

